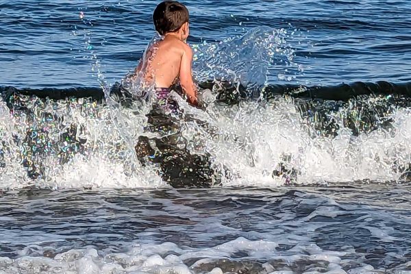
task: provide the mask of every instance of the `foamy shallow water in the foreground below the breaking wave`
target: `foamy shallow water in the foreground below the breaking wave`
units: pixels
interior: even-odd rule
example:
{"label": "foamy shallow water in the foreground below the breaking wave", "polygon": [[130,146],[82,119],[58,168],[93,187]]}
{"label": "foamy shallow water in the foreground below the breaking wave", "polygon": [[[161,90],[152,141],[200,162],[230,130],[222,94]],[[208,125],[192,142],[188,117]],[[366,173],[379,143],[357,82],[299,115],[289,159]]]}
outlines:
{"label": "foamy shallow water in the foreground below the breaking wave", "polygon": [[20,190],[0,273],[409,273],[410,187]]}

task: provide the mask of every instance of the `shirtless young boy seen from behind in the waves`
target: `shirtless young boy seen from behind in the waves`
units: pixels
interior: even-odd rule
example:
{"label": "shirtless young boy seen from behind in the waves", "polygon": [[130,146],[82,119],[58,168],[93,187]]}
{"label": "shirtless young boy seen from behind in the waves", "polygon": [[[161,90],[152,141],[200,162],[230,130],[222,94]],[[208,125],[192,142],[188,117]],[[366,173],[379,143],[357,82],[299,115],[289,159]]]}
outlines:
{"label": "shirtless young boy seen from behind in the waves", "polygon": [[197,90],[192,82],[192,49],[186,44],[189,34],[188,10],[177,1],[164,1],[155,8],[153,21],[162,40],[147,51],[136,68],[147,84],[154,84],[160,104],[175,110],[177,103],[170,99],[171,86],[179,84],[188,103],[197,105]]}

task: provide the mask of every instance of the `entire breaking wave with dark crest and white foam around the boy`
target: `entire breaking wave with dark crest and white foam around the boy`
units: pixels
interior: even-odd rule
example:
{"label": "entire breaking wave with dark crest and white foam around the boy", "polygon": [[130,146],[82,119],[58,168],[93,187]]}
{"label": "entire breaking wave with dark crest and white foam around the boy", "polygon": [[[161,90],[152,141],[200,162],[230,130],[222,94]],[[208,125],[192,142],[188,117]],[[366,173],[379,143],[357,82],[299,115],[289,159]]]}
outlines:
{"label": "entire breaking wave with dark crest and white foam around the boy", "polygon": [[115,100],[106,100],[101,88],[0,88],[2,187],[276,186],[411,177],[410,84],[200,86],[205,110],[190,108],[175,93],[184,110],[179,119],[120,85],[108,92]]}

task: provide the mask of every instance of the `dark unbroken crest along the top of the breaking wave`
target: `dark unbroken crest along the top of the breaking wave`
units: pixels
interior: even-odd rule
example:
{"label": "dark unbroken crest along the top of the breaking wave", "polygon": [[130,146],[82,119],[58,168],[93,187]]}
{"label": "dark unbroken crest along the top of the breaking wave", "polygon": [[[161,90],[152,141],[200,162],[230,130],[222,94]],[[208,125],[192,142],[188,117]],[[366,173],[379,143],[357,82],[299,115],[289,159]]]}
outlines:
{"label": "dark unbroken crest along the top of the breaking wave", "polygon": [[[217,99],[225,103],[238,103],[242,99],[271,99],[277,95],[289,95],[294,98],[323,99],[329,101],[347,101],[362,95],[395,95],[404,99],[411,98],[411,82],[391,83],[379,81],[375,83],[354,82],[336,86],[303,86],[298,84],[268,84],[249,88],[242,84],[227,81],[206,81],[198,83],[202,89],[215,90]],[[255,86],[255,85],[252,85]],[[12,95],[34,95],[39,98],[67,99],[69,97],[101,100],[104,92],[99,87],[75,88],[14,88],[13,86],[0,86],[3,101],[8,101]],[[131,98],[130,93],[120,84],[114,84],[110,90],[112,95]]]}

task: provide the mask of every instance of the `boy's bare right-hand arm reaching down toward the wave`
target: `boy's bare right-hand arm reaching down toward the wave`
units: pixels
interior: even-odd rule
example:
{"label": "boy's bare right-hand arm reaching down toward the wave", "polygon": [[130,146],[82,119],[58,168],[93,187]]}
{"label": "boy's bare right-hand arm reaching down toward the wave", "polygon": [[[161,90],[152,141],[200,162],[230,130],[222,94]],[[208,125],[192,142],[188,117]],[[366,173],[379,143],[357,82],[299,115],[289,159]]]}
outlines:
{"label": "boy's bare right-hand arm reaching down toward the wave", "polygon": [[182,63],[180,64],[179,80],[183,92],[187,95],[188,102],[197,106],[197,89],[192,82],[192,49],[184,44]]}

